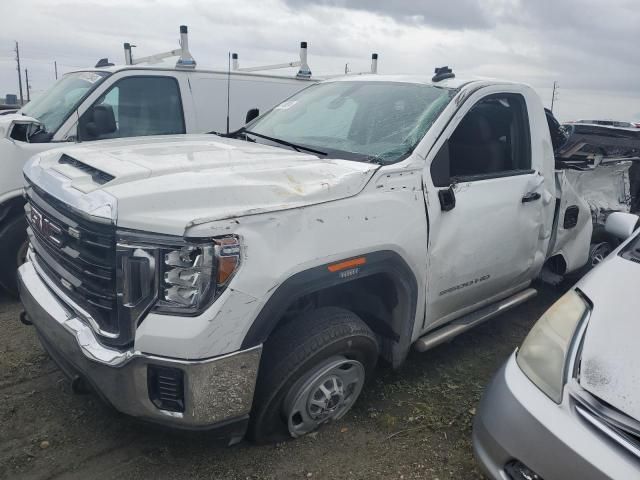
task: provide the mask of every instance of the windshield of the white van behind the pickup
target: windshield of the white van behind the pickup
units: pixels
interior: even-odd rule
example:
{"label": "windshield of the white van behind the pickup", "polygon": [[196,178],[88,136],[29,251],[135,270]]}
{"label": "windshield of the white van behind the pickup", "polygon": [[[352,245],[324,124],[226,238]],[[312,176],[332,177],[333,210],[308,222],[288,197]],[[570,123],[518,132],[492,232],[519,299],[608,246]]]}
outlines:
{"label": "windshield of the white van behind the pickup", "polygon": [[107,72],[69,73],[27,103],[20,113],[37,119],[46,132],[54,133],[80,101],[108,75]]}

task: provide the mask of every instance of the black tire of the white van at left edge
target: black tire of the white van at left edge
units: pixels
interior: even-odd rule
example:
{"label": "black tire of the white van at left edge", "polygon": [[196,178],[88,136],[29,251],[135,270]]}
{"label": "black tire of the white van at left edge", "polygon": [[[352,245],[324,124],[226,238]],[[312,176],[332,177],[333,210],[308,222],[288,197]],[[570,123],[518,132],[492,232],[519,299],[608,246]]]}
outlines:
{"label": "black tire of the white van at left edge", "polygon": [[0,230],[0,286],[18,296],[18,267],[25,261],[29,241],[24,215],[9,218]]}

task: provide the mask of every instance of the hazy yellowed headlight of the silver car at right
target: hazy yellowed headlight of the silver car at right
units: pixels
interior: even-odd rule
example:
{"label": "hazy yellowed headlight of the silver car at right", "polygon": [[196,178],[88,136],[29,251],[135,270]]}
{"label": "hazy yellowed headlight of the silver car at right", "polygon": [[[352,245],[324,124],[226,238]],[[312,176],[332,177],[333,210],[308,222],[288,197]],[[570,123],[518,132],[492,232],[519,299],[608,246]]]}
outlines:
{"label": "hazy yellowed headlight of the silver car at right", "polygon": [[589,305],[576,291],[564,294],[533,326],[516,355],[520,369],[554,402],[562,401],[567,356]]}

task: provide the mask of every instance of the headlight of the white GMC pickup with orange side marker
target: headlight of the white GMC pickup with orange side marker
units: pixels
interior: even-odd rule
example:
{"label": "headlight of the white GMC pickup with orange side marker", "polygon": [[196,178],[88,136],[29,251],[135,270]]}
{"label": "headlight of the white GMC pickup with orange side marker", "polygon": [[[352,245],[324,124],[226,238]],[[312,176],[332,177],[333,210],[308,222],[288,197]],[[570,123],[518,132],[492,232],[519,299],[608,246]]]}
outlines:
{"label": "headlight of the white GMC pickup with orange side marker", "polygon": [[118,242],[117,251],[121,312],[136,318],[149,308],[199,315],[240,266],[235,235],[189,241],[128,236]]}

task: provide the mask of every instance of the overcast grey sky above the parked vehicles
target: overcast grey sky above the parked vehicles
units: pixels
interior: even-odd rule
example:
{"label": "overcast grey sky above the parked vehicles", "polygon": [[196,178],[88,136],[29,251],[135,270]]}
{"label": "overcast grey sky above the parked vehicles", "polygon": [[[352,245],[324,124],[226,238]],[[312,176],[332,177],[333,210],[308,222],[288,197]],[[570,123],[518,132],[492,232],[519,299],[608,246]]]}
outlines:
{"label": "overcast grey sky above the parked vehicles", "polygon": [[54,60],[61,74],[122,62],[125,41],[170,50],[186,24],[200,66],[225,68],[229,51],[244,66],[295,60],[306,40],[314,74],[367,70],[377,52],[380,73],[449,65],[529,83],[547,106],[557,80],[562,120],[640,121],[638,0],[0,0],[0,18],[0,96],[18,90],[16,40],[36,95]]}

